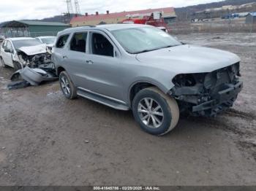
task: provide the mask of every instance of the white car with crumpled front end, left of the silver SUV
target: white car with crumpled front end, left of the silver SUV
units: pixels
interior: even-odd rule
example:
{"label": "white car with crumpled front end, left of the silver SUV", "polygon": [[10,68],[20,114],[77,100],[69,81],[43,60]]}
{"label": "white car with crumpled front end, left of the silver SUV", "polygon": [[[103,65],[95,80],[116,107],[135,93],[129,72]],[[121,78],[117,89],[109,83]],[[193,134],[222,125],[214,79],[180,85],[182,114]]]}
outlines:
{"label": "white car with crumpled front end, left of the silver SUV", "polygon": [[38,55],[46,52],[45,44],[31,37],[18,37],[5,39],[0,48],[0,59],[3,66],[10,66],[15,70],[25,65],[20,61],[18,53]]}

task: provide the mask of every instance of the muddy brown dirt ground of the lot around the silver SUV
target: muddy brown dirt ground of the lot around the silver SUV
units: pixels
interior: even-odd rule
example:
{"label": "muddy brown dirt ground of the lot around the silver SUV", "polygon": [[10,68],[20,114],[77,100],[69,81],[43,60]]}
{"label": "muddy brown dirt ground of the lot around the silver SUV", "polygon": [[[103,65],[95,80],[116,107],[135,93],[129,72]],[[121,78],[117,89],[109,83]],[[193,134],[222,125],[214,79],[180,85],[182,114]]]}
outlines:
{"label": "muddy brown dirt ground of the lot around the silver SUV", "polygon": [[132,112],[61,95],[58,82],[7,90],[0,68],[1,185],[255,185],[256,34],[180,35],[241,57],[244,90],[216,118],[181,117],[167,136]]}

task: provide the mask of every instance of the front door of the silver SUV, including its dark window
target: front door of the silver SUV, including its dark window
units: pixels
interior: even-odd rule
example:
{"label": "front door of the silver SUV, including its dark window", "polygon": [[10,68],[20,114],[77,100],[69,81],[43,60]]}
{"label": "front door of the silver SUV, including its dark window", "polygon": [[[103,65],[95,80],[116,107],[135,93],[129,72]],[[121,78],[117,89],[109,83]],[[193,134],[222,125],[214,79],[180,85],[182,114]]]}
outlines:
{"label": "front door of the silver SUV, including its dark window", "polygon": [[101,31],[91,31],[89,54],[86,54],[86,85],[83,87],[95,93],[124,100],[120,52],[111,39]]}

